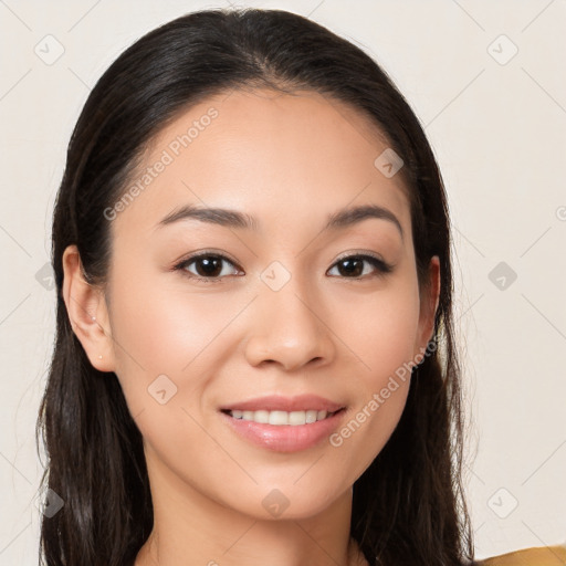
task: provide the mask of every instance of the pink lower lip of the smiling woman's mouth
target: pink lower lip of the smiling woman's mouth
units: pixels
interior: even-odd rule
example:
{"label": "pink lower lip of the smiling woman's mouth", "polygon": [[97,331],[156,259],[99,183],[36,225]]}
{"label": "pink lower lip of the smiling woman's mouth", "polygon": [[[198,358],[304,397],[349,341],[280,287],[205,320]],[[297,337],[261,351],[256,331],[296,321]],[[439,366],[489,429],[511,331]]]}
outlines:
{"label": "pink lower lip of the smiling woman's mouth", "polygon": [[275,452],[298,452],[315,447],[338,427],[345,410],[308,424],[263,424],[252,420],[220,415],[238,434],[252,443]]}

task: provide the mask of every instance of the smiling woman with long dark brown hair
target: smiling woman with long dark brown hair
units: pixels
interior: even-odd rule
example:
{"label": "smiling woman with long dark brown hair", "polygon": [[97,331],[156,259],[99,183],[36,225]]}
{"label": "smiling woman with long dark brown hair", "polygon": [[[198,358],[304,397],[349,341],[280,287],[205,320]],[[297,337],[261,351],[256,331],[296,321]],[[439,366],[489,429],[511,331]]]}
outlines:
{"label": "smiling woman with long dark brown hair", "polygon": [[46,564],[470,564],[450,242],[352,43],[275,10],[137,41],[55,206]]}

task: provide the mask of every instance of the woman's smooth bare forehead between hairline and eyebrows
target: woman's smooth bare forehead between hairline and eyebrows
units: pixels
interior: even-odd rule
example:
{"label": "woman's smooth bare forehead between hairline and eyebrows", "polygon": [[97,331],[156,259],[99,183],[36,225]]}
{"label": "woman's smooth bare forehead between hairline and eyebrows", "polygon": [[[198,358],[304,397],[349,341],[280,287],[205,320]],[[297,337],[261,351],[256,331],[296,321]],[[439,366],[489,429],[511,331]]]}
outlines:
{"label": "woman's smooth bare forehead between hairline and eyebrows", "polygon": [[366,116],[318,93],[211,96],[154,136],[128,185],[136,197],[113,229],[153,229],[186,203],[242,210],[262,228],[377,203],[410,230],[401,175],[388,178],[375,165],[387,148]]}

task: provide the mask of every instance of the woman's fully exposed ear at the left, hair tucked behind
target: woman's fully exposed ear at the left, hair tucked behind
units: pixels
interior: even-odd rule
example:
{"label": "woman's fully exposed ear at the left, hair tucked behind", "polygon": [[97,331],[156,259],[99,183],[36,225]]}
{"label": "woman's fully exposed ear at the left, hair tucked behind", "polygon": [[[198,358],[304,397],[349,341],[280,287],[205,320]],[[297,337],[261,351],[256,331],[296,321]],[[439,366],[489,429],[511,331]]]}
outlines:
{"label": "woman's fully exposed ear at the left, hair tucked behind", "polygon": [[63,253],[63,300],[76,337],[99,371],[114,371],[114,347],[104,293],[86,282],[76,245]]}

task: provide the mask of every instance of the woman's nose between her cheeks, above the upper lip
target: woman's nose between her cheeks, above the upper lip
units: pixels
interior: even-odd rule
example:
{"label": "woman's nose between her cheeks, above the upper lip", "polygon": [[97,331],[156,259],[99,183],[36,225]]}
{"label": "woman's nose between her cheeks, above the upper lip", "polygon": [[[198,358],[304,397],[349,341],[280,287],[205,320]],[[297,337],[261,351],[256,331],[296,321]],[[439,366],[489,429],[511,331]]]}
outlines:
{"label": "woman's nose between her cheeks, above the upper lip", "polygon": [[245,357],[254,366],[279,364],[286,371],[331,363],[335,342],[321,295],[307,294],[295,277],[279,291],[265,286],[253,303]]}

